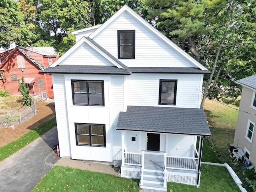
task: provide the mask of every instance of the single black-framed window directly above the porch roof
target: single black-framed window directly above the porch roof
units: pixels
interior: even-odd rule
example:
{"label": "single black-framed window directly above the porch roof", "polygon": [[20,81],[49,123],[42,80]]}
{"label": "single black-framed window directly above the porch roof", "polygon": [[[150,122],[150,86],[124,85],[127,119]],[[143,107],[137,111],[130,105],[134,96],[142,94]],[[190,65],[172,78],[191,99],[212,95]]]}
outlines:
{"label": "single black-framed window directly above the porch roof", "polygon": [[177,80],[160,80],[159,102],[160,105],[175,105]]}

